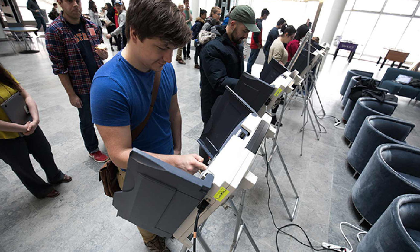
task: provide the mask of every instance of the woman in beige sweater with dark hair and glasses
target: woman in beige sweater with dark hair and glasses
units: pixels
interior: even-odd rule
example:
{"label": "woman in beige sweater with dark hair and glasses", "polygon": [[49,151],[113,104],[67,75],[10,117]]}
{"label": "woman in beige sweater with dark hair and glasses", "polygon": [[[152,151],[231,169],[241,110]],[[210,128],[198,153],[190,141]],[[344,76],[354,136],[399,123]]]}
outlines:
{"label": "woman in beige sweater with dark hair and glasses", "polygon": [[268,63],[270,63],[271,59],[275,59],[283,65],[287,62],[287,56],[289,53],[286,51],[286,45],[293,39],[294,34],[296,34],[296,29],[294,29],[293,26],[283,24],[281,32],[281,35],[274,40],[270,47]]}

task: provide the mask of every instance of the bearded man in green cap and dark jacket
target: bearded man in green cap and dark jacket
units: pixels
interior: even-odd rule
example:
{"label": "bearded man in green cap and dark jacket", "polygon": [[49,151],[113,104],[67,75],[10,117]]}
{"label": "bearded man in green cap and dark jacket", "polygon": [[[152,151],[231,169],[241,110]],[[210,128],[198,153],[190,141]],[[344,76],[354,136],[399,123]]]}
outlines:
{"label": "bearded man in green cap and dark jacket", "polygon": [[[204,124],[211,116],[211,108],[226,86],[234,88],[244,72],[244,55],[242,41],[249,31],[259,32],[255,25],[255,13],[247,5],[239,5],[230,13],[226,29],[217,27],[215,36],[210,32],[201,32],[199,42],[203,45],[200,52],[200,87],[201,118]],[[208,161],[208,156],[200,149],[200,156]]]}

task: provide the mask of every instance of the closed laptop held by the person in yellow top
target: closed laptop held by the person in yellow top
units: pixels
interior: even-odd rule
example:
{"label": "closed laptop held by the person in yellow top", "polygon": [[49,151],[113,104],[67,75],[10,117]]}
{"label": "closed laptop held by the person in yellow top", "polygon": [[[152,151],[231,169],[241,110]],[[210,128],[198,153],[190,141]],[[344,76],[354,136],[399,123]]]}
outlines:
{"label": "closed laptop held by the person in yellow top", "polygon": [[9,117],[11,122],[25,125],[27,122],[32,121],[28,105],[26,104],[20,92],[13,94],[0,106]]}

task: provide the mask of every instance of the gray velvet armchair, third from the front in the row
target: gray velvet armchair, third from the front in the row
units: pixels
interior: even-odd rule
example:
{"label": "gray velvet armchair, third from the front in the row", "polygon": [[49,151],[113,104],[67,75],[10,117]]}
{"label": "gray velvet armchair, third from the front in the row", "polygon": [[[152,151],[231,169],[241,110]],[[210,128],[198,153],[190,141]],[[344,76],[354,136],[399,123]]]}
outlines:
{"label": "gray velvet armchair, third from the front in the row", "polygon": [[376,148],[384,143],[403,141],[414,128],[411,122],[388,116],[368,116],[354,139],[347,161],[358,173],[362,173]]}

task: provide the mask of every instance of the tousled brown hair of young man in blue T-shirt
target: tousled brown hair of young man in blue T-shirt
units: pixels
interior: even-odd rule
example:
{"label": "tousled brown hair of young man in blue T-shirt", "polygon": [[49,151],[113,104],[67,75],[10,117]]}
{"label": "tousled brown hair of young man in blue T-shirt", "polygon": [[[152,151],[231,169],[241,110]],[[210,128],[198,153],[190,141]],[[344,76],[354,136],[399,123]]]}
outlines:
{"label": "tousled brown hair of young man in blue T-shirt", "polygon": [[183,47],[191,39],[185,17],[171,0],[130,0],[126,16],[126,37],[130,30],[141,40],[158,38]]}

